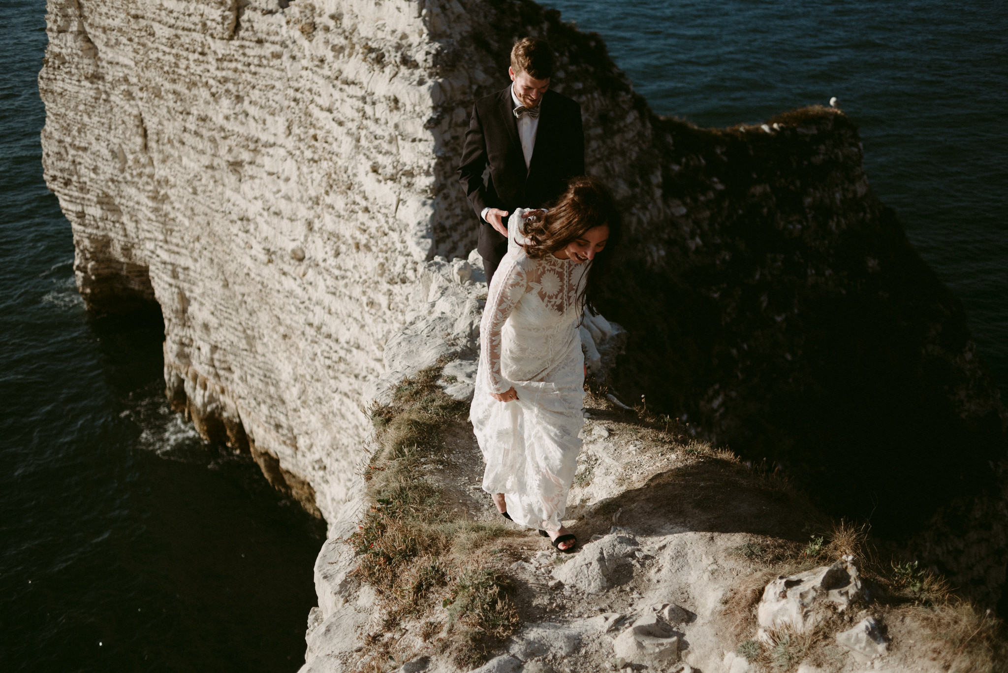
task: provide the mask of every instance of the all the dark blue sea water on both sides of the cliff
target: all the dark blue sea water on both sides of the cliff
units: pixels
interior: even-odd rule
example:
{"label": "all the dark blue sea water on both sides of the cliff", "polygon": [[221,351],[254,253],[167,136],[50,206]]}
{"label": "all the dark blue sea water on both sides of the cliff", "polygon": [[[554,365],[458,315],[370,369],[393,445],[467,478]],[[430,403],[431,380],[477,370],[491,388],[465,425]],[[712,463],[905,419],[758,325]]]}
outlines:
{"label": "all the dark blue sea water on both sides of the cliff", "polygon": [[[838,97],[1008,390],[1003,1],[546,4],[659,114],[724,126]],[[42,182],[43,16],[0,0],[0,670],[295,671],[324,527],[167,409],[157,316],[84,311]]]}

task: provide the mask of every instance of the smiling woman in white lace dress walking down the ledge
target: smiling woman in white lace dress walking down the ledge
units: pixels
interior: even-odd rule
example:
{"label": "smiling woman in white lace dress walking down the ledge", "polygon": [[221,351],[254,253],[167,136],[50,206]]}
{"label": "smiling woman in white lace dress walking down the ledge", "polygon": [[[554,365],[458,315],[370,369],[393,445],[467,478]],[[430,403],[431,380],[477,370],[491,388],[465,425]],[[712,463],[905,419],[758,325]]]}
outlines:
{"label": "smiling woman in white lace dress walking down the ledge", "polygon": [[620,236],[609,193],[576,178],[548,212],[516,210],[480,323],[470,420],[498,512],[574,551],[561,523],[584,425],[579,326]]}

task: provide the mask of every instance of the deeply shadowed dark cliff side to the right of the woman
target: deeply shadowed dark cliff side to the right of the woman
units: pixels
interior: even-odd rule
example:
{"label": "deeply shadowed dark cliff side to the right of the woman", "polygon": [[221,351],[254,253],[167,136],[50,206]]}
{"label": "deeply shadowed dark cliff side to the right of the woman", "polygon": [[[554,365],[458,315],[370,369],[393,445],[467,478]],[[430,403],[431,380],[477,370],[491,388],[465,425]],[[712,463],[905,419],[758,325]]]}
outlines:
{"label": "deeply shadowed dark cliff side to the right of the woman", "polygon": [[599,303],[630,333],[613,386],[993,602],[1005,413],[963,307],[868,189],[854,124],[779,119],[755,139],[655,122],[688,212],[633,232]]}

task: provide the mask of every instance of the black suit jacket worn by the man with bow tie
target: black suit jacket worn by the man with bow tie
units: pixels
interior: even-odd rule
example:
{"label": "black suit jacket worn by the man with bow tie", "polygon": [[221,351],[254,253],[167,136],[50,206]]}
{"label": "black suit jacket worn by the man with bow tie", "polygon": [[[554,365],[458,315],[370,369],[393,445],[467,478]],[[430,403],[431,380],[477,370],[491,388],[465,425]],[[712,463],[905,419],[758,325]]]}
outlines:
{"label": "black suit jacket worn by the man with bow tie", "polygon": [[[459,180],[479,217],[484,208],[549,206],[566,189],[568,180],[585,173],[585,132],[581,106],[554,91],[542,97],[532,160],[525,169],[511,87],[476,101],[466,131]],[[483,172],[490,165],[489,184]],[[477,248],[487,259],[499,261],[507,238],[480,218]]]}

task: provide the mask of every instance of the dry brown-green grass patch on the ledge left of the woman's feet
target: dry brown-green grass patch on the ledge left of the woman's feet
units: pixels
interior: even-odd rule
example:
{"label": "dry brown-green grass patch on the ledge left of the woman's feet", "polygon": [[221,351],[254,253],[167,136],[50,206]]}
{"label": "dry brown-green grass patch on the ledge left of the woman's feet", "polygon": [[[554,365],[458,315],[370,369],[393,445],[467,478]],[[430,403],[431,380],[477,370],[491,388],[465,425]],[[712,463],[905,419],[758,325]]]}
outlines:
{"label": "dry brown-green grass patch on the ledge left of the woman's feet", "polygon": [[436,385],[443,366],[404,379],[392,404],[368,410],[377,443],[364,468],[371,507],[348,542],[361,559],[355,576],[381,601],[384,634],[366,639],[362,653],[375,673],[408,658],[394,636],[405,620],[418,621],[420,638],[460,665],[479,664],[518,626],[511,582],[488,551],[511,533],[454,518],[442,490],[419,476],[436,462],[442,430],[468,412]]}

